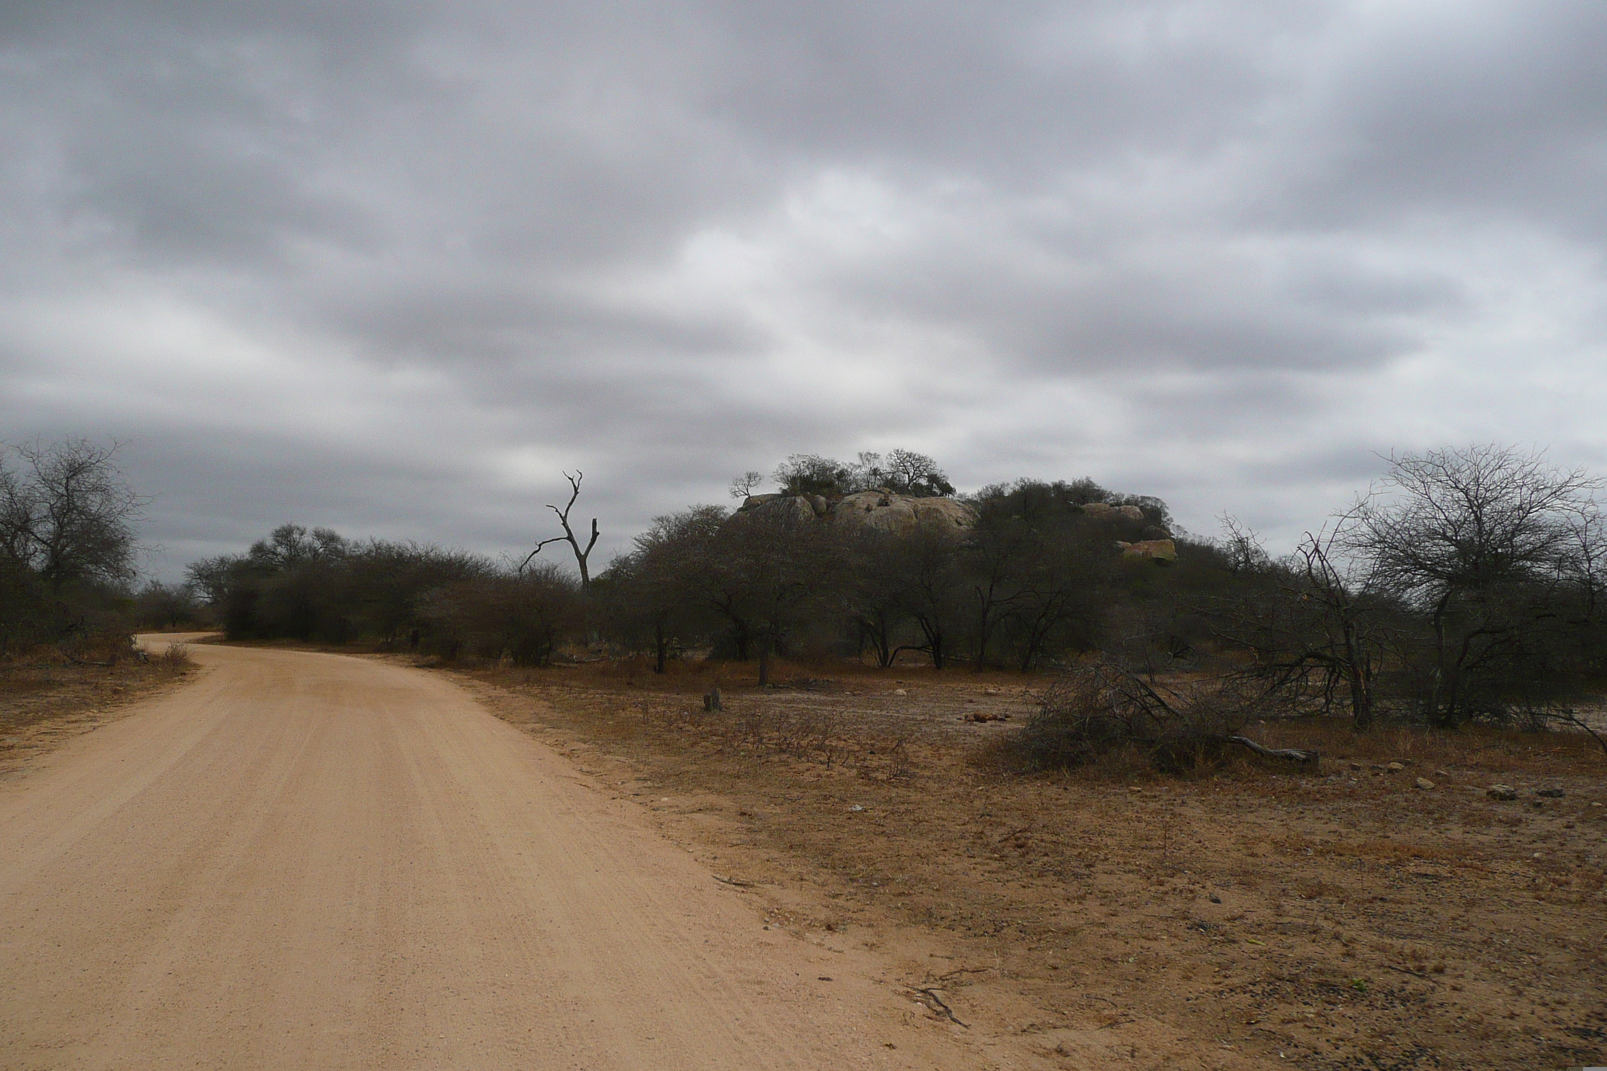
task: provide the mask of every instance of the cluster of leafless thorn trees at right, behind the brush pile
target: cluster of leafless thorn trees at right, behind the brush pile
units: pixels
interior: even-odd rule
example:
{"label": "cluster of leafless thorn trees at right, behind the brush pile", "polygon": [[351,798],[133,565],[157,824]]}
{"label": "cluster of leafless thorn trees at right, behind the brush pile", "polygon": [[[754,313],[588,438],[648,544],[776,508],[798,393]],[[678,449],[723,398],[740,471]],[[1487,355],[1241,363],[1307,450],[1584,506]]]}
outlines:
{"label": "cluster of leafless thorn trees at right, behind the brush pile", "polygon": [[1607,671],[1599,490],[1515,450],[1406,454],[1281,560],[1233,528],[1241,581],[1200,612],[1292,713],[1568,721]]}

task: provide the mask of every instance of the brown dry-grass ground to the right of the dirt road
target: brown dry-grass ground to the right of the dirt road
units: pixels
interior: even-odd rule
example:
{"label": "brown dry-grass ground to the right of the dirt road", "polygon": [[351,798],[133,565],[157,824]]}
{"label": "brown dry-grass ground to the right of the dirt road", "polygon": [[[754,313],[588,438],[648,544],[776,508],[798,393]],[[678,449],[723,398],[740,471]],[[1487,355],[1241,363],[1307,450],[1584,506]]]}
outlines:
{"label": "brown dry-grass ground to the right of the dirt road", "polygon": [[[1588,737],[1271,723],[1247,732],[1321,750],[1321,771],[1236,756],[1163,777],[1117,755],[1020,777],[979,755],[1041,679],[792,665],[776,676],[795,687],[759,690],[750,674],[472,678],[710,869],[755,882],[742,894],[776,925],[882,947],[1016,1066],[1607,1055],[1607,759]],[[715,682],[728,710],[704,715]],[[1486,798],[1498,779],[1522,798]]]}

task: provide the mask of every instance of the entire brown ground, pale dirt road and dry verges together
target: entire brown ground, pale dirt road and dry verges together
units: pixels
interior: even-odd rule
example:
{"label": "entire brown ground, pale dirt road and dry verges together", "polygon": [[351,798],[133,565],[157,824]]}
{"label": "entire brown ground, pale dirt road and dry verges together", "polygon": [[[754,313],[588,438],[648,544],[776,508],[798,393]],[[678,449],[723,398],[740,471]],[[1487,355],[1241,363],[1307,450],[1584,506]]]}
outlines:
{"label": "entire brown ground, pale dirt road and dry verges together", "polygon": [[193,650],[0,707],[5,1066],[1607,1061],[1583,735],[1022,777],[1043,679]]}

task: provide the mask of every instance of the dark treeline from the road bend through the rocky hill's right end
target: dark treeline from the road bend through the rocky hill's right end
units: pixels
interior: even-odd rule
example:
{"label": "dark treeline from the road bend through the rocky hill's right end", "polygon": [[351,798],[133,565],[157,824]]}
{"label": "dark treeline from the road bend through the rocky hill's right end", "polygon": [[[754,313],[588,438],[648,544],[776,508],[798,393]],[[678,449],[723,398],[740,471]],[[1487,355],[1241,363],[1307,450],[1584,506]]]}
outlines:
{"label": "dark treeline from the road bend through the rocky hill's right end", "polygon": [[[1139,506],[1090,512],[1096,503]],[[654,520],[588,597],[556,562],[521,572],[299,525],[196,562],[190,581],[231,637],[368,637],[521,665],[601,642],[651,654],[660,670],[688,655],[755,660],[760,673],[771,655],[1032,670],[1151,637],[1172,655],[1210,641],[1184,596],[1231,583],[1216,546],[1186,543],[1167,568],[1115,549],[1165,535],[1157,499],[1019,480],[967,504],[969,530],[900,531],[696,506]]]}

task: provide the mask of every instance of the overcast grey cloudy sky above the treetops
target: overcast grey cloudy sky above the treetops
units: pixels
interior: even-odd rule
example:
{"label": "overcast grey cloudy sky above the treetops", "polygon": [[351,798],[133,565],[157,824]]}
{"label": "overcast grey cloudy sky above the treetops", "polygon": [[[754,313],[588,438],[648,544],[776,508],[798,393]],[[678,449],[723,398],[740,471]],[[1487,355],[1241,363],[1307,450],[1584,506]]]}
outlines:
{"label": "overcast grey cloudy sky above the treetops", "polygon": [[1287,541],[1377,453],[1607,469],[1607,6],[0,5],[0,438],[153,568],[606,554],[787,453]]}

